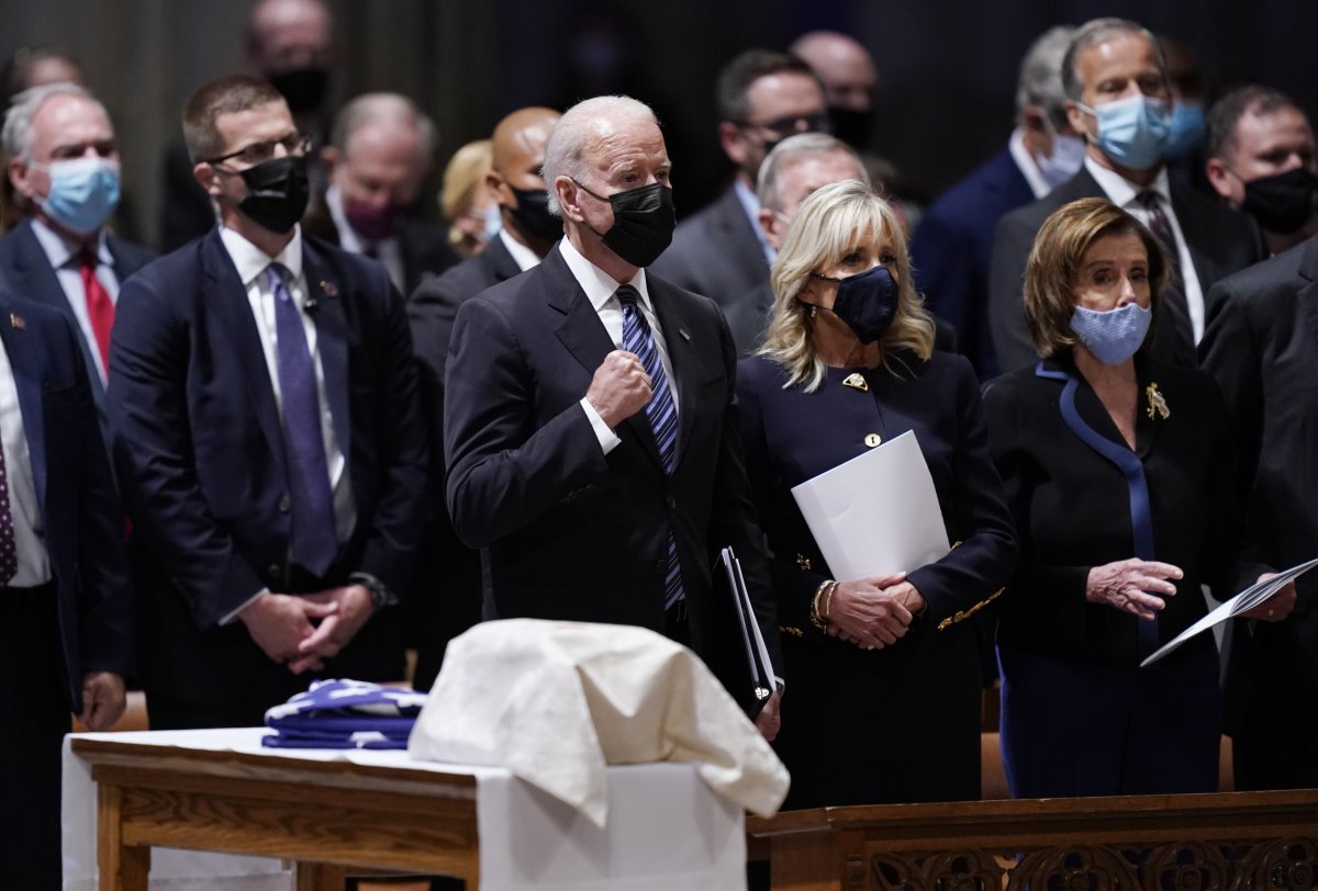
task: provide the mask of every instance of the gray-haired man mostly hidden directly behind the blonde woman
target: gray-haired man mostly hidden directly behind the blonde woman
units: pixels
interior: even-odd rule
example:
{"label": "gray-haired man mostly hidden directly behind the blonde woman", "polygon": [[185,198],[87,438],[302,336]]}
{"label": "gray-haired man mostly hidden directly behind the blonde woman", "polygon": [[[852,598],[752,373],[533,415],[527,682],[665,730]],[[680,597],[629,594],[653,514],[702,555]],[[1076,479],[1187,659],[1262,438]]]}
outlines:
{"label": "gray-haired man mostly hidden directly behind the blonde woman", "polygon": [[[865,165],[847,143],[828,133],[799,133],[779,142],[759,167],[755,192],[759,196],[759,229],[775,251],[783,246],[787,226],[815,190],[844,179],[869,183]],[[728,326],[741,353],[757,346],[768,313],[774,308],[774,291],[762,282],[728,309]]]}

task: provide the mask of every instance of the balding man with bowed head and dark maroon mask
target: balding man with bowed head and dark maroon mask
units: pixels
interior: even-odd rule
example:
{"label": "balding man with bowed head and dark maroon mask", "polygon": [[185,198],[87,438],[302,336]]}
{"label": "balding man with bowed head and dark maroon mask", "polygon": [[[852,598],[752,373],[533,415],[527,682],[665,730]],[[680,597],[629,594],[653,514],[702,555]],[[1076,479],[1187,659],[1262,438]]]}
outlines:
{"label": "balding man with bowed head and dark maroon mask", "polygon": [[457,262],[444,229],[416,212],[435,158],[435,125],[399,93],[365,93],[343,107],[320,150],[328,187],[302,228],[349,254],[384,263],[402,293]]}

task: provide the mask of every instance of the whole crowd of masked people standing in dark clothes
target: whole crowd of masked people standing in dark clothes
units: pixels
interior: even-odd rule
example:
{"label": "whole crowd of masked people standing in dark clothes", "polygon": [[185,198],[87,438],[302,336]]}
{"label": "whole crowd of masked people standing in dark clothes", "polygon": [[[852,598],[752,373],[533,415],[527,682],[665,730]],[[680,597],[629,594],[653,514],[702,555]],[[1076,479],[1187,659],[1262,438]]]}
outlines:
{"label": "whole crowd of masked people standing in dark clothes", "polygon": [[[70,712],[109,728],[133,684],[156,729],[254,725],[312,678],[402,679],[407,649],[428,688],[482,619],[689,645],[788,807],[977,798],[995,679],[1016,796],[1213,791],[1223,732],[1236,788],[1318,787],[1307,576],[1140,667],[1210,595],[1318,557],[1318,162],[1286,95],[1205,111],[1184,46],[1053,28],[1007,143],[919,207],[867,147],[873,59],[817,32],[724,67],[734,176],[680,222],[645,97],[597,96],[464,146],[440,225],[413,101],[327,125],[332,29],[319,0],[253,9],[249,72],[199,87],[165,150],[163,255],[125,238],[76,63],[4,72],[0,783],[29,805],[0,859],[24,887],[58,874]],[[907,432],[954,546],[834,578],[792,488]]]}

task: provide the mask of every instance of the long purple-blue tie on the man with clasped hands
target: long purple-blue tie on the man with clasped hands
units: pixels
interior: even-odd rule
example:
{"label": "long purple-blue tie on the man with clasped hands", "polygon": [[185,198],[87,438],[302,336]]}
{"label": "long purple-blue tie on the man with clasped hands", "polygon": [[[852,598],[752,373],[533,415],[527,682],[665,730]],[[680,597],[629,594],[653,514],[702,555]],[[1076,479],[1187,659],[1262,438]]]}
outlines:
{"label": "long purple-blue tie on the man with clasped hands", "polygon": [[274,292],[275,354],[283,401],[283,453],[289,465],[293,513],[293,559],[324,575],[339,550],[320,425],[316,370],[307,349],[302,311],[283,282],[285,268],[270,263],[266,280]]}

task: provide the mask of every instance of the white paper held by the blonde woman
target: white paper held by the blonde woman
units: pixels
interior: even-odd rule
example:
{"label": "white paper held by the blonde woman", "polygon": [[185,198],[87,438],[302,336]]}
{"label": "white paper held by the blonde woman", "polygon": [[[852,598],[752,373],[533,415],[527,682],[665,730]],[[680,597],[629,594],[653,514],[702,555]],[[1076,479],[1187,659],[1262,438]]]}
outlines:
{"label": "white paper held by the blonde woman", "polygon": [[792,488],[833,576],[909,573],[952,547],[913,430]]}

